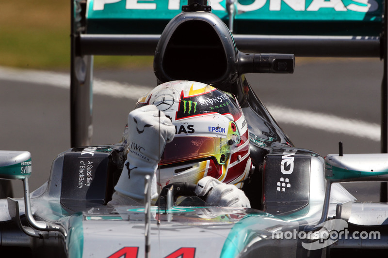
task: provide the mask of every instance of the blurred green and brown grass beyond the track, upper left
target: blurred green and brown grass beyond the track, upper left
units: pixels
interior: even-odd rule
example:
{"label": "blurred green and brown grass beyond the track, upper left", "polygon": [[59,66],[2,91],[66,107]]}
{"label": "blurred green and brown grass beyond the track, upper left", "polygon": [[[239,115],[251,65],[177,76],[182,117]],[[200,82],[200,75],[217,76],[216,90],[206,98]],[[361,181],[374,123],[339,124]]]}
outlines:
{"label": "blurred green and brown grass beyond the track, upper left", "polygon": [[[0,0],[0,66],[70,68],[70,0]],[[95,67],[151,67],[153,57],[96,56]]]}

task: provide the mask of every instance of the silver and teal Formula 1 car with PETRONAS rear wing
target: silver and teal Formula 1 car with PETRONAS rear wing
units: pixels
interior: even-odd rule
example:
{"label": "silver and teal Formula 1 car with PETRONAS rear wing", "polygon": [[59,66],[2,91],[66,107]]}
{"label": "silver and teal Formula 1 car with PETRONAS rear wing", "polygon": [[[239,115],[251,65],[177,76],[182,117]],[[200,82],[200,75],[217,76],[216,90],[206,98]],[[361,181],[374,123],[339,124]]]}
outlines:
{"label": "silver and teal Formula 1 car with PETRONAS rear wing", "polygon": [[[329,3],[337,11],[342,8],[339,2],[312,1],[308,7],[303,6],[313,11]],[[177,1],[170,0],[166,9],[176,10],[177,4]],[[238,49],[239,44],[242,44],[242,49],[271,49],[274,47],[272,44],[287,38],[285,42],[289,48],[285,50],[303,42],[310,47],[331,42],[335,46],[346,44],[341,53],[349,53],[352,47],[371,46],[372,49],[359,54],[369,56],[375,55],[374,46],[377,42],[380,44],[380,39],[377,42],[374,39],[365,40],[365,34],[358,40],[342,36],[326,37],[325,40],[278,36],[267,37],[266,46],[266,37],[230,33],[230,30],[239,31],[244,27],[244,19],[249,20],[250,14],[247,9],[239,9],[243,5],[237,2],[226,1],[225,4],[227,15],[217,10],[221,9],[220,1],[210,6],[206,1],[189,0],[187,5],[182,5],[182,12],[167,25],[163,22],[168,12],[162,14],[157,26],[145,22],[144,26],[151,28],[148,31],[154,30],[154,33],[160,29],[158,26],[165,26],[160,36],[133,36],[139,29],[136,26],[115,26],[117,22],[125,23],[125,17],[132,14],[128,10],[138,8],[144,11],[139,11],[139,15],[146,17],[146,8],[166,7],[165,2],[72,1],[71,115],[74,148],[57,156],[49,181],[31,194],[28,184],[32,171],[31,154],[0,151],[0,178],[22,180],[24,185],[24,198],[0,199],[1,255],[232,258],[339,257],[344,254],[365,256],[386,253],[387,203],[357,202],[339,182],[388,181],[388,154],[343,154],[340,145],[339,154],[323,158],[316,152],[293,146],[252,91],[244,74],[292,73],[294,56],[244,53]],[[258,1],[251,6],[254,4],[260,5]],[[302,8],[299,1],[288,1],[287,4],[293,10]],[[358,5],[352,2],[346,3],[345,7],[342,3],[346,10],[362,12],[368,8],[369,13],[365,15],[364,12],[358,24],[366,26],[368,18],[372,24],[370,28],[374,29],[382,22],[379,19],[382,17],[381,4],[377,1]],[[284,3],[271,1],[270,7],[272,11],[276,8],[280,10],[280,7],[284,8]],[[245,10],[246,14],[241,20],[237,19],[241,15],[239,10]],[[106,13],[114,15],[107,19],[104,16]],[[269,24],[269,20],[271,18],[267,16],[261,22]],[[298,23],[300,21],[295,21],[294,25]],[[346,24],[338,22],[336,25]],[[278,32],[281,25],[277,26],[274,31]],[[259,30],[259,33],[264,31]],[[364,30],[363,33],[366,31],[374,32]],[[98,34],[94,34],[96,32]],[[108,32],[130,35],[102,34]],[[264,43],[256,46],[257,42]],[[131,46],[136,46],[136,49]],[[192,194],[190,186],[184,183],[163,188],[155,206],[150,205],[149,191],[145,193],[144,206],[106,205],[112,198],[125,155],[122,143],[104,146],[88,144],[91,117],[90,103],[85,99],[89,100],[88,91],[91,90],[90,55],[130,54],[131,51],[148,53],[152,48],[156,49],[154,70],[158,83],[200,81],[237,97],[249,128],[251,158],[255,167],[243,188],[252,208],[210,206]],[[294,50],[307,51],[298,49]],[[335,55],[338,51],[333,50],[330,54]],[[83,103],[87,106],[81,106]],[[149,189],[149,184],[150,179],[146,178],[146,189]]]}

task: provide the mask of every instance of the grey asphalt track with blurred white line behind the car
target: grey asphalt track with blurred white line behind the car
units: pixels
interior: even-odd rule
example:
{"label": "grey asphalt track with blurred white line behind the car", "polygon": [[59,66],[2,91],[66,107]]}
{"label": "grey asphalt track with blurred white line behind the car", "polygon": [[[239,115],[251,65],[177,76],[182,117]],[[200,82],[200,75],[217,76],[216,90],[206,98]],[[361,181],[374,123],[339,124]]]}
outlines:
{"label": "grey asphalt track with blurred white line behind the car", "polygon": [[[292,75],[247,78],[294,145],[324,156],[337,153],[339,141],[345,153],[380,152],[382,71],[378,59],[297,59]],[[30,189],[34,190],[49,178],[57,154],[70,148],[69,76],[43,73],[37,78],[34,74],[32,80],[24,71],[17,74],[0,72],[0,149],[32,153]],[[95,87],[93,144],[115,143],[136,103],[120,91],[126,85],[152,88],[156,79],[152,69],[95,70],[94,76],[103,86]],[[104,88],[115,86],[112,81],[119,83],[118,95]],[[21,197],[21,182],[13,186],[16,197]],[[350,189],[361,200],[378,200],[375,185],[357,183]]]}

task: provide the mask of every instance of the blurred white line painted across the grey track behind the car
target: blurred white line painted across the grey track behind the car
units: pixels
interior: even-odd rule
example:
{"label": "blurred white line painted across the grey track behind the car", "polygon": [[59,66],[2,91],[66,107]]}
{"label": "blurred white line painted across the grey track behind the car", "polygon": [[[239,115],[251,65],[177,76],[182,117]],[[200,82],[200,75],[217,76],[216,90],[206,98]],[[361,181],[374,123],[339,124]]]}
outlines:
{"label": "blurred white line painted across the grey track behind the car", "polygon": [[[70,89],[70,76],[65,73],[48,71],[23,70],[0,67],[0,79],[19,81],[26,83],[37,83],[59,88]],[[115,98],[128,98],[137,100],[152,88],[94,79],[93,92]],[[380,125],[360,120],[341,118],[334,115],[311,112],[300,109],[267,105],[268,110],[279,123],[293,124],[308,128],[341,133],[354,137],[366,138],[373,141],[380,141]]]}

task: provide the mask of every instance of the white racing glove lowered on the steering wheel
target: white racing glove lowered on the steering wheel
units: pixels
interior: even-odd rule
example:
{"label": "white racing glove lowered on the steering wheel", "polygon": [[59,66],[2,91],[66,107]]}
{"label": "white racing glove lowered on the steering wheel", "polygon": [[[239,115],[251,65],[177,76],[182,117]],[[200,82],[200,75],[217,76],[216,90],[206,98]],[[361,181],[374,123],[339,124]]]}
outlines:
{"label": "white racing glove lowered on the steering wheel", "polygon": [[248,197],[234,184],[226,184],[209,176],[202,178],[197,183],[194,192],[198,197],[206,197],[205,201],[210,205],[251,207]]}

